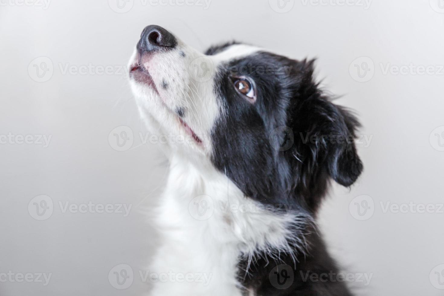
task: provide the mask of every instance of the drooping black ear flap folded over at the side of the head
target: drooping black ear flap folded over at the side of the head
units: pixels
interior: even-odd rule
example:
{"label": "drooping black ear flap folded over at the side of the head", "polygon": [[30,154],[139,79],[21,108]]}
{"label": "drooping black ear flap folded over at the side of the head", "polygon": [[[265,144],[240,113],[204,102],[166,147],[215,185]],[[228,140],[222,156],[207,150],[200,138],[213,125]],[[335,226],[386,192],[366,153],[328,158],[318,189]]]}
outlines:
{"label": "drooping black ear flap folded over at the side of the head", "polygon": [[359,126],[350,111],[321,96],[302,103],[295,129],[301,136],[299,147],[303,145],[303,150],[309,151],[305,155],[309,158],[307,163],[320,164],[333,180],[348,187],[363,169],[355,146],[355,131]]}

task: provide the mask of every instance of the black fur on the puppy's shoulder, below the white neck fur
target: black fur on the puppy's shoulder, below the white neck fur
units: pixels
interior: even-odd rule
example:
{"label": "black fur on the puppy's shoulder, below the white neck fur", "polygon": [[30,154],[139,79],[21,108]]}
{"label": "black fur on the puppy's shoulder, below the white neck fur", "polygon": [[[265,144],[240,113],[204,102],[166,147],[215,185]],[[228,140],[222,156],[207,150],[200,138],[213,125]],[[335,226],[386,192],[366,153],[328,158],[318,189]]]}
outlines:
{"label": "black fur on the puppy's shoulder, below the white neck fur", "polygon": [[276,258],[260,253],[248,272],[248,259],[244,258],[239,263],[238,280],[258,296],[352,296],[321,238],[313,232],[305,239],[310,244],[306,255],[280,253]]}

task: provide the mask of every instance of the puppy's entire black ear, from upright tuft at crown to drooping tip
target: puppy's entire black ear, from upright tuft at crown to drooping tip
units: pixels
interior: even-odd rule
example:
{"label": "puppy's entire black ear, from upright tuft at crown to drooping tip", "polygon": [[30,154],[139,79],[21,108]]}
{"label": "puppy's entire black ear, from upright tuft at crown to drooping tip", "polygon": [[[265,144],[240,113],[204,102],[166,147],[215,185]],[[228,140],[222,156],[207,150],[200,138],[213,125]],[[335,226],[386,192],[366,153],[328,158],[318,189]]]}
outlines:
{"label": "puppy's entire black ear, from upright tuft at crown to drooping tip", "polygon": [[313,79],[313,62],[297,63],[298,89],[293,101],[291,127],[298,141],[293,154],[304,158],[302,171],[305,174],[321,176],[320,172],[326,171],[337,183],[348,187],[363,169],[355,146],[355,133],[361,125],[350,111],[333,104],[322,93]]}

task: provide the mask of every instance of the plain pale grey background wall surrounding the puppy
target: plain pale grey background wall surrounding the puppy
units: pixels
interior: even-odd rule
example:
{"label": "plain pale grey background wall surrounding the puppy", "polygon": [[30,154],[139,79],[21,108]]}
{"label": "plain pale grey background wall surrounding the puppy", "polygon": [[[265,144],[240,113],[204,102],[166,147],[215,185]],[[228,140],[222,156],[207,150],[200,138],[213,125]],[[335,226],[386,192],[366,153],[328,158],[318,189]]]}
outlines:
{"label": "plain pale grey background wall surrounding the puppy", "polygon": [[[351,283],[359,286],[358,295],[444,295],[438,289],[444,288],[444,275],[438,277],[444,269],[444,213],[438,210],[444,202],[442,0],[374,0],[369,6],[282,1],[288,12],[273,0],[271,5],[212,0],[207,9],[199,2],[162,6],[130,0],[127,12],[115,1],[53,0],[48,7],[1,2],[0,135],[52,137],[47,147],[20,139],[0,144],[0,274],[52,273],[46,286],[0,282],[1,296],[146,290],[149,283],[139,270],[146,270],[155,243],[147,217],[162,189],[166,162],[155,145],[141,142],[139,133],[147,131],[119,69],[148,24],[168,28],[198,50],[234,38],[297,59],[317,57],[325,88],[342,95],[337,103],[355,109],[364,125],[361,134],[373,137],[369,145],[358,145],[365,172],[357,184],[351,190],[335,186],[321,211],[332,252],[345,270],[373,275],[368,286]],[[42,56],[47,58],[35,60]],[[52,72],[37,82],[34,65],[42,61]],[[411,63],[416,68],[396,73],[396,67]],[[74,71],[89,64],[110,66],[112,73]],[[385,71],[387,65],[392,71]],[[429,72],[421,75],[427,66]],[[71,74],[66,67],[74,69]],[[126,151],[116,151],[112,135],[108,138],[119,126],[134,133]],[[32,212],[32,199],[40,195],[53,205],[42,221]],[[127,217],[63,213],[59,202],[132,208]],[[357,212],[363,202],[367,212]],[[385,211],[387,202],[436,210],[396,213]],[[119,264],[134,271],[125,290],[108,280]]]}

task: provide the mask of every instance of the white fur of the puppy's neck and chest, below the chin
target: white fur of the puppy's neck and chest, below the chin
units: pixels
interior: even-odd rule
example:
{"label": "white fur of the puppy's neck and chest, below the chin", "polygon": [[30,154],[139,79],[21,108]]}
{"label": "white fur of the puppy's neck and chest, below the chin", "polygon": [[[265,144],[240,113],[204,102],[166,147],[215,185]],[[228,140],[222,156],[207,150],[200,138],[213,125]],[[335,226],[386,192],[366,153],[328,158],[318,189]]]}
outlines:
{"label": "white fur of the puppy's neck and chest, below the chin", "polygon": [[292,252],[288,239],[297,239],[292,233],[295,215],[270,211],[244,197],[224,174],[203,167],[179,157],[170,160],[157,209],[162,241],[150,268],[159,274],[151,295],[240,296],[236,276],[241,255]]}

